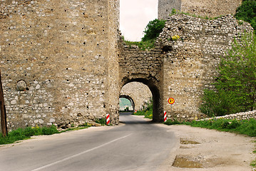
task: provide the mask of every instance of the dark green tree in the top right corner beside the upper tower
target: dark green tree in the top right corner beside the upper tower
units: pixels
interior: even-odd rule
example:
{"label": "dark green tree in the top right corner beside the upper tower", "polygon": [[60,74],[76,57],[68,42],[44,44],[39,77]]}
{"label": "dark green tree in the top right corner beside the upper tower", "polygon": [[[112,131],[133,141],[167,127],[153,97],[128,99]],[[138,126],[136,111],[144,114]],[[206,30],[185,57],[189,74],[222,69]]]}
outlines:
{"label": "dark green tree in the top right corner beside the upper tower", "polygon": [[242,5],[237,8],[235,18],[247,21],[256,29],[256,1],[246,0],[242,1]]}

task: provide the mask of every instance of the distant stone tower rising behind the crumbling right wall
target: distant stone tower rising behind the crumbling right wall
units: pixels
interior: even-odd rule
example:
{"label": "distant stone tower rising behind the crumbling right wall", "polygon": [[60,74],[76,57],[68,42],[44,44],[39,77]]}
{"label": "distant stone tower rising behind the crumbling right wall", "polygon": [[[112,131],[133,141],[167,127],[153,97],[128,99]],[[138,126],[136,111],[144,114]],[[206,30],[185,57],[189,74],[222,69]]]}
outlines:
{"label": "distant stone tower rising behind the crumbling right wall", "polygon": [[235,14],[242,0],[159,0],[158,19],[167,19],[173,9],[199,16]]}

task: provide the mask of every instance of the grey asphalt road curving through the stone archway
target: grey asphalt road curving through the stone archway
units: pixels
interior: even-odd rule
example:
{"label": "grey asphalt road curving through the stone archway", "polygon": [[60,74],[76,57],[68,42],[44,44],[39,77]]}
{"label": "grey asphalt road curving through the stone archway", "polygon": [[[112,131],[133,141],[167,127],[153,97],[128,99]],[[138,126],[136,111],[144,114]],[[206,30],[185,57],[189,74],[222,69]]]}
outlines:
{"label": "grey asphalt road curving through the stone archway", "polygon": [[121,125],[40,136],[0,147],[0,170],[157,170],[176,138],[128,113]]}

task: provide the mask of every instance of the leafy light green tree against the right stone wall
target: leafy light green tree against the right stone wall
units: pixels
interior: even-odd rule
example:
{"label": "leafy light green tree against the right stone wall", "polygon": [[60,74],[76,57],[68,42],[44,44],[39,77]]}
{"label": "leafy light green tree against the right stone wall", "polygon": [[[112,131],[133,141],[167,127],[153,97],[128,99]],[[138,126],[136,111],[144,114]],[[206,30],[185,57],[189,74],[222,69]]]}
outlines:
{"label": "leafy light green tree against the right stone wall", "polygon": [[227,115],[256,108],[256,38],[245,33],[221,57],[215,90],[205,90],[200,110]]}

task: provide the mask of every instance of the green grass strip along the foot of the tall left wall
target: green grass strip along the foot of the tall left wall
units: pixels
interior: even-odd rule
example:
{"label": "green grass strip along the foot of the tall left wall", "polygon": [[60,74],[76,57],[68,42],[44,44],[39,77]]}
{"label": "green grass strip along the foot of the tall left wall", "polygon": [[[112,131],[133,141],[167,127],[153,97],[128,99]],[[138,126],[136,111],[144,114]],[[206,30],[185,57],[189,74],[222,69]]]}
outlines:
{"label": "green grass strip along the foot of the tall left wall", "polygon": [[27,127],[27,128],[18,128],[16,130],[12,130],[8,133],[8,136],[4,137],[0,133],[0,145],[11,144],[19,140],[28,140],[33,135],[53,135],[56,133],[63,133],[69,130],[81,130],[91,127],[89,124],[83,124],[78,126],[77,128],[68,128],[67,130],[62,130],[59,132],[55,125],[51,125],[51,127]]}

